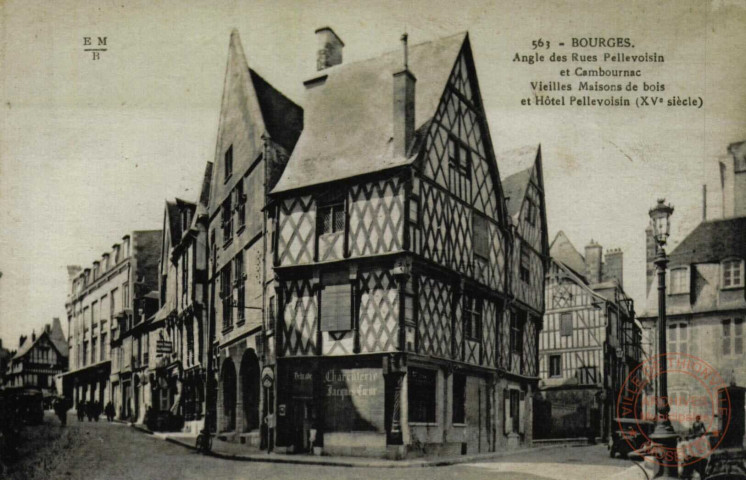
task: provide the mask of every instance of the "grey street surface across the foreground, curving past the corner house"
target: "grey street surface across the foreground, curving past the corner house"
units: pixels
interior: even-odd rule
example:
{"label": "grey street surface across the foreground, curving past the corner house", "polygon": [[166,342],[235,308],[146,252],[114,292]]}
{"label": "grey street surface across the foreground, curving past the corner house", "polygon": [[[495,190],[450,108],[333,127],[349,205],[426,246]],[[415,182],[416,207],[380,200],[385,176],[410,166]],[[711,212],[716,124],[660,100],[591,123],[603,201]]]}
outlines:
{"label": "grey street surface across the foreground, curving past the corner house", "polygon": [[[42,427],[59,429],[56,418],[47,416]],[[179,445],[142,433],[119,423],[68,423],[71,447],[56,459],[48,478],[96,479],[363,479],[385,474],[392,480],[439,479],[642,479],[630,472],[631,464],[609,459],[604,446],[558,447],[523,453],[496,461],[427,468],[348,468],[231,461],[203,456]],[[42,450],[40,455],[44,455]],[[630,475],[631,474],[631,475]],[[23,477],[11,477],[23,478]],[[44,477],[39,477],[44,478]]]}

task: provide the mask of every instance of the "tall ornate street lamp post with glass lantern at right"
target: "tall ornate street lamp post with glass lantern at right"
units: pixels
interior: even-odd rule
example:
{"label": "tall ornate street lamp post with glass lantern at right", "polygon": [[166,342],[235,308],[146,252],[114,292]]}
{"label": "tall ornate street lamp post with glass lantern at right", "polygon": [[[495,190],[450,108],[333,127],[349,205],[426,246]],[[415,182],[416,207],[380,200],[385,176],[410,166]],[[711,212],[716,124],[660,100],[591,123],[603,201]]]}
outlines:
{"label": "tall ornate street lamp post with glass lantern at right", "polygon": [[657,446],[658,471],[656,478],[679,478],[678,458],[676,456],[677,435],[671,425],[669,413],[671,407],[668,401],[668,374],[666,361],[666,256],[665,245],[671,228],[671,214],[673,207],[667,205],[664,199],[658,199],[658,203],[650,212],[650,223],[653,227],[653,237],[658,246],[655,256],[655,266],[658,270],[658,399],[656,402],[658,410],[658,421],[655,430],[650,435]]}

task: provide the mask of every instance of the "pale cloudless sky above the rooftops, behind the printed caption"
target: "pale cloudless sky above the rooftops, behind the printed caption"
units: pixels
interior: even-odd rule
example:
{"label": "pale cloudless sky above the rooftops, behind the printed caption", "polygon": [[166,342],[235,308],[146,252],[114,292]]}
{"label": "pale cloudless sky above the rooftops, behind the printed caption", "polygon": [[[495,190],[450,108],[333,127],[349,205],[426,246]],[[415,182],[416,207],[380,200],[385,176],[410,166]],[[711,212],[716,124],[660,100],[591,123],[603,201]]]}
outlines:
{"label": "pale cloudless sky above the rooftops, behind the printed caption", "polygon": [[[703,183],[719,215],[716,159],[746,139],[743,4],[649,3],[2,2],[0,338],[15,348],[65,318],[66,265],[90,266],[125,232],[160,228],[166,198],[196,198],[233,28],[249,65],[301,105],[318,27],[339,34],[345,61],[399,48],[404,30],[412,43],[468,30],[496,150],[542,144],[550,241],[564,230],[581,253],[591,238],[622,248],[641,310],[648,208],[659,196],[674,204],[674,243],[701,219]],[[107,38],[98,61],[83,51],[87,36]],[[578,64],[515,63],[515,53],[588,36],[664,55],[635,68],[664,96],[701,96],[704,108],[520,106],[530,81]]]}

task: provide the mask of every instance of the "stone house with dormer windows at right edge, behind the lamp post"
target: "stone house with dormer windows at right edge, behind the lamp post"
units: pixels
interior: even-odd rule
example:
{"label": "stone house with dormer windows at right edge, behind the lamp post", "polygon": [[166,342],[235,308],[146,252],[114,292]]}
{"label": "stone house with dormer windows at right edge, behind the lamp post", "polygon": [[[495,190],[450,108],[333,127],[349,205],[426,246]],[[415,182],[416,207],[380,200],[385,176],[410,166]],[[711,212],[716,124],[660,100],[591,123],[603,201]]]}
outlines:
{"label": "stone house with dormer windows at right edge, behind the lamp post", "polygon": [[[709,363],[726,384],[746,385],[746,142],[728,147],[719,167],[723,217],[703,220],[669,252],[666,279],[667,352]],[[673,217],[675,220],[675,216]],[[648,295],[640,320],[657,353],[658,280],[656,246],[646,230]],[[671,418],[679,431],[696,415],[712,419],[710,401],[692,377],[669,375]],[[652,408],[650,409],[652,414]]]}

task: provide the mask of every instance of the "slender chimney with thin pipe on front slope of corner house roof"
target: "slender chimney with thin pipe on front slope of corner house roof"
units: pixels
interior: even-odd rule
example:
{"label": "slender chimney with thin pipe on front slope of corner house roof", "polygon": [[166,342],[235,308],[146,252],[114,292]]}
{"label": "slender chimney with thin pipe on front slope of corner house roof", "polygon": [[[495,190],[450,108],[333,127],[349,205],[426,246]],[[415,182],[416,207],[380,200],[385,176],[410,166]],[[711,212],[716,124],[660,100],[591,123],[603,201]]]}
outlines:
{"label": "slender chimney with thin pipe on front slope of corner house roof", "polygon": [[407,34],[401,37],[403,69],[394,73],[394,156],[407,157],[414,139],[414,94],[417,78],[409,71]]}

